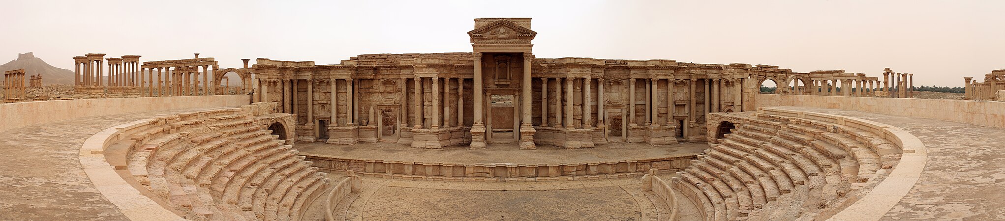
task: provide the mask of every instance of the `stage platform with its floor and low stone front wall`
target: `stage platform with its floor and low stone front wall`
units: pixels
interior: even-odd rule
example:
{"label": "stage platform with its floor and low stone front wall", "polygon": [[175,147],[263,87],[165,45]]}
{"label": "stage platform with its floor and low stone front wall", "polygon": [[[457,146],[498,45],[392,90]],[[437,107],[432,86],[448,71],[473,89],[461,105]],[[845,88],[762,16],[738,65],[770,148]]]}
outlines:
{"label": "stage platform with its floor and low stone front wall", "polygon": [[326,172],[353,170],[368,176],[409,180],[520,182],[641,176],[649,169],[675,172],[696,160],[708,145],[615,143],[593,149],[539,146],[537,150],[493,145],[469,150],[413,149],[392,143],[296,143],[294,149]]}

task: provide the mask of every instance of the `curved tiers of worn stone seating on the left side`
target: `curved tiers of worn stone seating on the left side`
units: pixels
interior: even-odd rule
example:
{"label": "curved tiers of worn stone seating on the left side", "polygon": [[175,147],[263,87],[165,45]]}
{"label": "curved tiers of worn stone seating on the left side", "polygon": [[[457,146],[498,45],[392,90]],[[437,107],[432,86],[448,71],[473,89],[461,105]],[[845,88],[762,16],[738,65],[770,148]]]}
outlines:
{"label": "curved tiers of worn stone seating on the left side", "polygon": [[331,180],[240,108],[177,114],[132,136],[127,167],[189,220],[299,220]]}

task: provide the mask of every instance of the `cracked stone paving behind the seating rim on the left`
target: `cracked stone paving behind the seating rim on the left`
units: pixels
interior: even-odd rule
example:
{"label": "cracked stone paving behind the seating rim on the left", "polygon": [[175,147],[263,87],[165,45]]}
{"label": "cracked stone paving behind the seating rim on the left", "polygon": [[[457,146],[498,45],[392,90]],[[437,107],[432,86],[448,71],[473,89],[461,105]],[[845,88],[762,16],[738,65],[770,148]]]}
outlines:
{"label": "cracked stone paving behind the seating rim on the left", "polygon": [[187,108],[73,119],[3,132],[0,220],[128,220],[94,188],[77,158],[91,135]]}

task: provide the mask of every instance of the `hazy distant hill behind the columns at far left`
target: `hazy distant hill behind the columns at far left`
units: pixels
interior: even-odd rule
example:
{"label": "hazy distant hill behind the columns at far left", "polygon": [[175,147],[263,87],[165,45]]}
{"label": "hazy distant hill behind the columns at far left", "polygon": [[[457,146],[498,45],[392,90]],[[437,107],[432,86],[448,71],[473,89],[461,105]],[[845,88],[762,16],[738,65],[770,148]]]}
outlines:
{"label": "hazy distant hill behind the columns at far left", "polygon": [[[66,62],[70,62],[69,60],[69,58],[66,58]],[[31,52],[19,53],[17,54],[16,60],[11,60],[10,62],[0,65],[0,72],[15,69],[24,69],[25,75],[35,75],[41,73],[42,84],[44,85],[73,84],[73,70],[49,65],[42,60],[42,58],[35,57],[35,55]],[[3,76],[0,76],[0,78],[3,78]],[[25,79],[24,84],[28,84],[27,79]]]}

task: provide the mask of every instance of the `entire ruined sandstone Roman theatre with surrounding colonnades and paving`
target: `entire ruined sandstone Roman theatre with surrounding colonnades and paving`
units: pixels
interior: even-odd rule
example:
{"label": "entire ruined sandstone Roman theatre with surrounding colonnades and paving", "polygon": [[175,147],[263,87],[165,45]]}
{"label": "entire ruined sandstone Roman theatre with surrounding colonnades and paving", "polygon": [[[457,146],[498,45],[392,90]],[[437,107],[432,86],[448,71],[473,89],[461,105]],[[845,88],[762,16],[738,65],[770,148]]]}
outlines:
{"label": "entire ruined sandstone Roman theatre with surrounding colonnades and paving", "polygon": [[338,64],[83,53],[63,100],[8,71],[0,219],[1005,219],[1003,70],[925,99],[890,68],[545,58],[537,34],[477,18],[469,52]]}

